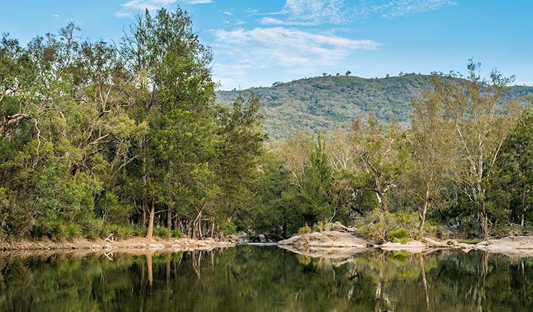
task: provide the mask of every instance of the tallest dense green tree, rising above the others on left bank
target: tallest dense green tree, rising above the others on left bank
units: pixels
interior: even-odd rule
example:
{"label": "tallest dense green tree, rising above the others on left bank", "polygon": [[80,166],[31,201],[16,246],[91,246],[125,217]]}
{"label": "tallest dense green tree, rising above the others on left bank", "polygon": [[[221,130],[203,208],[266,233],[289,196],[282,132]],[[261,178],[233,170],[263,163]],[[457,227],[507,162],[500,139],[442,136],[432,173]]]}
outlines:
{"label": "tallest dense green tree, rising above the others on left bank", "polygon": [[149,205],[147,238],[156,207],[167,211],[167,220],[177,207],[194,207],[181,212],[192,218],[192,234],[201,236],[202,212],[215,196],[209,165],[217,141],[211,51],[192,33],[190,17],[180,9],[161,9],[156,17],[146,11],[122,46],[140,87],[133,118],[149,126],[128,170],[130,179],[142,184],[136,188],[144,194],[142,211]]}

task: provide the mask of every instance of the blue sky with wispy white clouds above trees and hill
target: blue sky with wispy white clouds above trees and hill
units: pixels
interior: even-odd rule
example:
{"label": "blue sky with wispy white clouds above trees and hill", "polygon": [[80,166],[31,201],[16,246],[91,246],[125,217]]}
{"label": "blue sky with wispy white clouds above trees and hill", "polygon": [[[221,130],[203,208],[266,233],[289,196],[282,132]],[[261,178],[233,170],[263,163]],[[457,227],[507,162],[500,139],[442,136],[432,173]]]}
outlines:
{"label": "blue sky with wispy white clouds above trees and hill", "polygon": [[219,89],[351,71],[363,78],[496,68],[533,85],[530,0],[2,1],[0,33],[22,45],[69,21],[83,38],[120,41],[140,10],[178,7],[213,49]]}

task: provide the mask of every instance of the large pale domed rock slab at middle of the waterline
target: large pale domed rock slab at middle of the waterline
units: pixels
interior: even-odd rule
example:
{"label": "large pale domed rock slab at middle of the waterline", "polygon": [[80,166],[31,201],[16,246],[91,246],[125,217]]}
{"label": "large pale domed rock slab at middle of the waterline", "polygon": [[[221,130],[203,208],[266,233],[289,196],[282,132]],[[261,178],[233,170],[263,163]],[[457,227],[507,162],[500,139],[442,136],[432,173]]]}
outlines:
{"label": "large pale domed rock slab at middle of the waterline", "polygon": [[358,247],[366,248],[368,241],[354,236],[352,233],[325,231],[296,235],[290,239],[279,241],[278,245],[304,245],[307,247]]}

